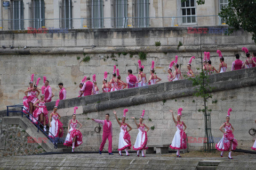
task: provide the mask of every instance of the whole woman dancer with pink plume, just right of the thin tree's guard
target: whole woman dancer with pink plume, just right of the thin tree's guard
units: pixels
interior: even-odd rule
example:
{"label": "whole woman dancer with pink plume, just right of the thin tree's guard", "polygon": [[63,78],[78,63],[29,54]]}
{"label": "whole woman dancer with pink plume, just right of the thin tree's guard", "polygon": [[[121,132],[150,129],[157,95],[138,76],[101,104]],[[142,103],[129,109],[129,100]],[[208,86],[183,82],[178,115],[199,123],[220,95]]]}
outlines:
{"label": "whole woman dancer with pink plume, just right of the thin tree's guard", "polygon": [[[220,131],[223,133],[222,139],[216,144],[215,148],[217,150],[221,150],[220,156],[223,156],[224,151],[229,151],[228,158],[233,159],[231,157],[231,150],[235,150],[237,147],[237,140],[234,138],[234,128],[229,123],[230,120],[230,112],[232,111],[231,108],[228,109],[228,115],[226,116],[226,121],[220,126]],[[225,129],[225,132],[222,129]]]}

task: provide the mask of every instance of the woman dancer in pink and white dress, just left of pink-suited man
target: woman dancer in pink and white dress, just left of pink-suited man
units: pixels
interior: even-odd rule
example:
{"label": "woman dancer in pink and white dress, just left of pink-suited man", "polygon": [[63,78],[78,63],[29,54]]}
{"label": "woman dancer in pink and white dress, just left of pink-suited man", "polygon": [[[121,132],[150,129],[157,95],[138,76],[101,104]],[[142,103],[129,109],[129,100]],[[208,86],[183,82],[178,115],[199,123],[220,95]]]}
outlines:
{"label": "woman dancer in pink and white dress, just left of pink-suited man", "polygon": [[[65,139],[65,142],[63,143],[63,145],[65,146],[68,146],[68,147],[72,146],[72,152],[74,152],[75,147],[78,147],[83,143],[83,135],[79,131],[83,125],[76,120],[77,109],[78,107],[74,107],[74,113],[72,115],[72,119],[68,122],[68,134]],[[78,129],[76,129],[77,124],[80,125]]]}

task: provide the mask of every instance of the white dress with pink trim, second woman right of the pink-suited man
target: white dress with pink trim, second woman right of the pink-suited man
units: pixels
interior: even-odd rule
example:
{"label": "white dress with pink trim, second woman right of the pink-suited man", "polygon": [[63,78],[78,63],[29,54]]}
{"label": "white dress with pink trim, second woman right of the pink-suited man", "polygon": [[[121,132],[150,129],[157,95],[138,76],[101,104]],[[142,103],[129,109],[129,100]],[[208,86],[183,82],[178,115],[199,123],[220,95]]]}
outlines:
{"label": "white dress with pink trim, second woman right of the pink-suited man", "polygon": [[140,128],[138,128],[139,133],[134,143],[133,150],[148,149],[147,147],[148,135],[147,135],[147,132],[145,131],[145,124],[143,125],[144,126],[140,126]]}

